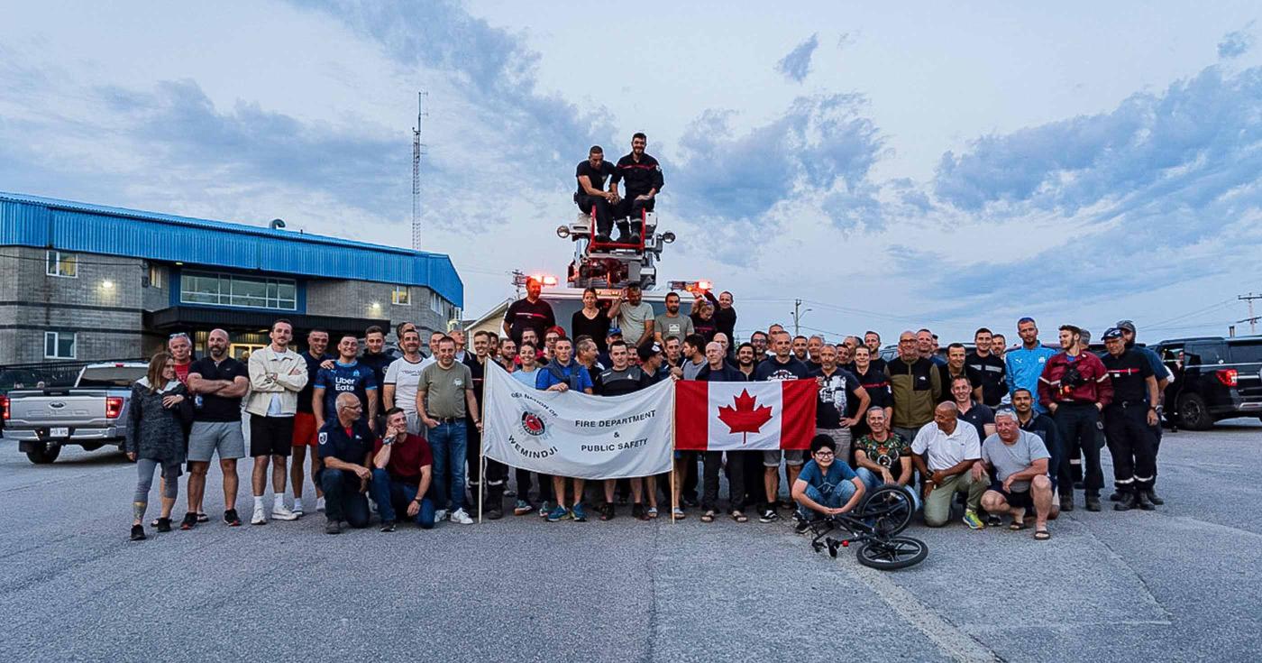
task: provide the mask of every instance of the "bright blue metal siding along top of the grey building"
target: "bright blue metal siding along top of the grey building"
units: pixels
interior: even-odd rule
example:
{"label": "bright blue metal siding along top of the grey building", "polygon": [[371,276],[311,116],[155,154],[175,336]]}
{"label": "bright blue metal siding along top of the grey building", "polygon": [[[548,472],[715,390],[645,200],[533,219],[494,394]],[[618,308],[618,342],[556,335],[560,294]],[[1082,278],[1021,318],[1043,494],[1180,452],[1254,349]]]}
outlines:
{"label": "bright blue metal siding along top of the grey building", "polygon": [[464,306],[443,254],[34,196],[0,192],[0,245],[424,285]]}

